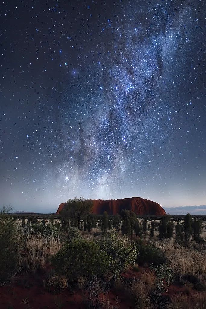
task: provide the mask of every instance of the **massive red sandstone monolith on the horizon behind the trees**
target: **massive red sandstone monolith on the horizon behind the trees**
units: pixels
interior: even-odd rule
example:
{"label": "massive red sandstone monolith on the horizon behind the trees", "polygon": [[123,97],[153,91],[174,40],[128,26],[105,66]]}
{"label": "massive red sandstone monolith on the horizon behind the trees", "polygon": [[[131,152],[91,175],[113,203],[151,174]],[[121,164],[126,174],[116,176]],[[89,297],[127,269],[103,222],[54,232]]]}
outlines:
{"label": "massive red sandstone monolith on the horizon behind the trees", "polygon": [[[63,209],[65,203],[61,203],[58,207],[57,214]],[[107,214],[120,214],[121,210],[130,209],[137,215],[157,215],[164,216],[164,209],[153,201],[145,200],[141,197],[123,198],[120,200],[93,200],[92,213],[103,214],[106,210]]]}

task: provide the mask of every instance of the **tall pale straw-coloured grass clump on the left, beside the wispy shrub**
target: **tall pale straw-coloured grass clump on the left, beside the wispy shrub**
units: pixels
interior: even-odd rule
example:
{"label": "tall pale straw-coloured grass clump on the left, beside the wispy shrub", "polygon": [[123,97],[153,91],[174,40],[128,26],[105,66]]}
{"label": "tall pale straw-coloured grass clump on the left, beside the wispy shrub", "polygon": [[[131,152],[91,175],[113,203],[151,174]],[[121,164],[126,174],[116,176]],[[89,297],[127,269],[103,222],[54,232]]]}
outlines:
{"label": "tall pale straw-coloured grass clump on the left, beside the wispy shrub", "polygon": [[60,248],[61,241],[58,237],[46,236],[40,232],[35,235],[31,231],[25,236],[22,264],[31,270],[43,268],[49,258],[54,256]]}

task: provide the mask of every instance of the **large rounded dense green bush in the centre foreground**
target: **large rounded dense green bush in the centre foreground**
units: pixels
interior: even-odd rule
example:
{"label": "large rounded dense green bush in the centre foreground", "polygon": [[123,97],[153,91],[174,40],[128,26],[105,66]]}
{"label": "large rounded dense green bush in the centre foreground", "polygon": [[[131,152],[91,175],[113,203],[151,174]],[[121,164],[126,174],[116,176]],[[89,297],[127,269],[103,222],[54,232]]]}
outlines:
{"label": "large rounded dense green bush in the centre foreground", "polygon": [[73,239],[52,259],[57,273],[70,280],[80,276],[102,275],[112,266],[112,258],[99,245],[85,239]]}

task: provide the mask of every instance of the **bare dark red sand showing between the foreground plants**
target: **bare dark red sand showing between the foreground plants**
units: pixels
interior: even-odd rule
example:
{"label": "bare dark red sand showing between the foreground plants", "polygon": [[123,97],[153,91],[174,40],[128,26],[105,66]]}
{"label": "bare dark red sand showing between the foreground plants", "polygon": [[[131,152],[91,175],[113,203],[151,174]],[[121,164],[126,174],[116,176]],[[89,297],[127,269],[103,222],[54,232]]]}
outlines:
{"label": "bare dark red sand showing between the foreground plants", "polygon": [[[145,271],[150,271],[149,268],[140,267],[139,271],[134,271],[132,269],[125,271],[122,276],[124,278],[140,278],[141,274]],[[20,280],[20,278],[26,278],[26,281],[29,283],[28,286],[25,286]],[[61,293],[48,292],[42,286],[41,275],[36,273],[27,272],[26,277],[20,275],[13,279],[11,284],[8,286],[0,287],[0,296],[1,296],[1,309],[84,309],[86,308],[84,300],[84,291],[74,290],[74,293],[71,293],[69,289],[62,290]],[[20,284],[21,283],[21,284]],[[184,288],[181,288],[177,285],[172,284],[169,287],[169,291],[164,295],[174,296],[184,293]],[[116,299],[118,296],[118,305],[119,309],[128,309],[133,308],[132,300],[128,297],[127,292],[125,291],[115,291],[114,289],[109,290],[105,294],[101,294],[102,300],[107,304],[109,300],[110,307],[116,305]]]}

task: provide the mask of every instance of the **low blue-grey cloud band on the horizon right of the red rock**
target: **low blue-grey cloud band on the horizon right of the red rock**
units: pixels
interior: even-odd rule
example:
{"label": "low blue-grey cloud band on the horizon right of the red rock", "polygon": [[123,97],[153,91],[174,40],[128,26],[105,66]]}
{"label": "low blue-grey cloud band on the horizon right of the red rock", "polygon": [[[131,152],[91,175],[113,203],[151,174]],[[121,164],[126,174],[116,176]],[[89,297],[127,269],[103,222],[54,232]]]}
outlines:
{"label": "low blue-grey cloud band on the horizon right of the red rock", "polygon": [[206,214],[206,205],[200,206],[180,206],[180,207],[164,207],[167,214]]}

